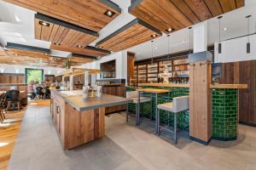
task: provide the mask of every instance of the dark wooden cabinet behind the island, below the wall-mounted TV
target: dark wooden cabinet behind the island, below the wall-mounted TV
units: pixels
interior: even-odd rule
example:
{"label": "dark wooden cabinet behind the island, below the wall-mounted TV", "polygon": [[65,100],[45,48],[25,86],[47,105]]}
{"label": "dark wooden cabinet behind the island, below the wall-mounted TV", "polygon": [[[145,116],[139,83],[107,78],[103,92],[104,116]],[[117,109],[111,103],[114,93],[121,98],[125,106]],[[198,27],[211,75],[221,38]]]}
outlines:
{"label": "dark wooden cabinet behind the island, below the wall-mounted TV", "polygon": [[[111,94],[115,96],[125,97],[125,84],[122,85],[110,85],[110,86],[103,86],[102,88],[103,94]],[[117,105],[112,107],[106,107],[106,114],[113,113],[116,111],[124,111],[126,108],[125,105]]]}

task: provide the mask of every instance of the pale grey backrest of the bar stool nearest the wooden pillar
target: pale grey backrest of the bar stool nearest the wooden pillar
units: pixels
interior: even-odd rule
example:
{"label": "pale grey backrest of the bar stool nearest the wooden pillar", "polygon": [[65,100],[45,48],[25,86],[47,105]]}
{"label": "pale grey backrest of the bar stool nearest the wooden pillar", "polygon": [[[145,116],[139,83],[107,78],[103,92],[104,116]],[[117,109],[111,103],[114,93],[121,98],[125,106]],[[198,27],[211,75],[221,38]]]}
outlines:
{"label": "pale grey backrest of the bar stool nearest the wooden pillar", "polygon": [[173,98],[172,100],[172,111],[180,112],[189,110],[189,96],[180,96]]}

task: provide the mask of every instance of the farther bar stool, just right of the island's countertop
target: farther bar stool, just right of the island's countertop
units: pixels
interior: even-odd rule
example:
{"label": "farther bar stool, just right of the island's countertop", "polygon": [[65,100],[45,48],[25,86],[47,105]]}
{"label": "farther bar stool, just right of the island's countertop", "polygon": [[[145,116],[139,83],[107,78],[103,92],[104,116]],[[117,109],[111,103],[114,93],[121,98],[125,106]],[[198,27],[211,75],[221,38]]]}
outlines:
{"label": "farther bar stool, just right of the island's countertop", "polygon": [[[127,99],[132,99],[132,103],[136,104],[136,117],[138,116],[138,114],[140,114],[140,111],[138,111],[138,92],[137,91],[131,91],[131,92],[126,92],[126,98]],[[146,98],[146,97],[140,97],[140,103],[146,103],[149,102],[151,99],[150,98]],[[126,122],[128,122],[128,116],[129,116],[129,111],[128,111],[128,104],[127,104],[127,109],[126,109]],[[139,120],[137,120],[136,125],[139,124]]]}

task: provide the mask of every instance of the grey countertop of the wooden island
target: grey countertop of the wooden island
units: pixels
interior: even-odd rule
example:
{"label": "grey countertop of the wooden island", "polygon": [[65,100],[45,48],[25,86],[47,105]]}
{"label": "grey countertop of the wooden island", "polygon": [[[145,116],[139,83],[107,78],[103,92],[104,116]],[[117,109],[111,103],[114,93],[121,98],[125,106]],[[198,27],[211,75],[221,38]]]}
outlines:
{"label": "grey countertop of the wooden island", "polygon": [[88,111],[91,109],[98,109],[102,107],[109,107],[115,105],[125,105],[131,102],[131,99],[126,99],[119,96],[109,94],[102,94],[101,98],[88,98],[83,99],[82,95],[66,95],[61,92],[55,91],[55,94],[61,96],[67,104],[73,106],[77,111]]}

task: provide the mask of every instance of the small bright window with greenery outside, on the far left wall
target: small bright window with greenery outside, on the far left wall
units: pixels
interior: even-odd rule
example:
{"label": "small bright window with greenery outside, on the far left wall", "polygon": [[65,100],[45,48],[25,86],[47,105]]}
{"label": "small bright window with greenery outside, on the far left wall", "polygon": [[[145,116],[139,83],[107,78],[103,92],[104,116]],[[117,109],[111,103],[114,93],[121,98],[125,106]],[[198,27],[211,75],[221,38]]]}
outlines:
{"label": "small bright window with greenery outside, on the far left wall", "polygon": [[44,70],[43,69],[25,69],[26,83],[31,81],[44,81]]}

